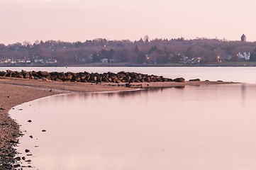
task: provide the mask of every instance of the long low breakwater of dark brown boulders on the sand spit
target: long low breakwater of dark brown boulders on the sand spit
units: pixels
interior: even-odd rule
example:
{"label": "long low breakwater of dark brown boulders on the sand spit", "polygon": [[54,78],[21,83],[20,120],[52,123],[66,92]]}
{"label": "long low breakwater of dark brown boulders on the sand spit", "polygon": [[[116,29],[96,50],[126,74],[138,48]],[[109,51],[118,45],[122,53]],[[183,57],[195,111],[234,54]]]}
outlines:
{"label": "long low breakwater of dark brown boulders on the sand spit", "polygon": [[14,72],[11,70],[0,71],[0,77],[15,77],[21,79],[39,79],[45,81],[65,81],[65,82],[90,82],[90,83],[116,83],[116,84],[130,84],[142,82],[185,82],[184,78],[169,79],[162,76],[155,76],[149,74],[140,74],[135,72],[106,72],[103,74],[89,73],[89,72]]}

